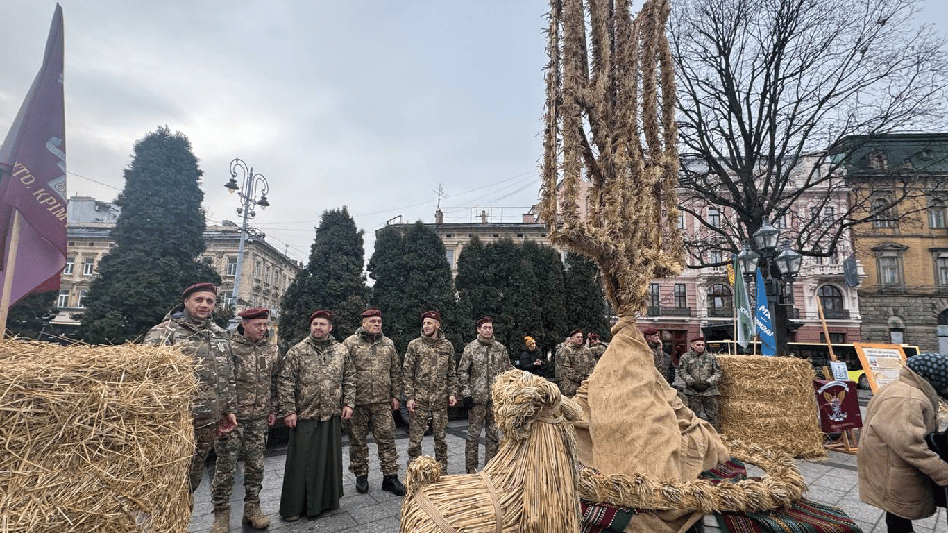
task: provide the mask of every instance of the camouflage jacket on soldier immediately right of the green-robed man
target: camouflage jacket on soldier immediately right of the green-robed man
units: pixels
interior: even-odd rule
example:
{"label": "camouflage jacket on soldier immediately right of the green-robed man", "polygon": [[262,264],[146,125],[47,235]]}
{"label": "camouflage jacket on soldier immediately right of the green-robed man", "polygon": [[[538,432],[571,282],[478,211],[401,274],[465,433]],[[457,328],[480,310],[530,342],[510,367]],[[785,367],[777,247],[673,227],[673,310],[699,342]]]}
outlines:
{"label": "camouflage jacket on soldier immediately right of the green-robed man", "polygon": [[401,395],[401,360],[391,339],[360,327],[342,343],[356,365],[356,405],[388,403]]}

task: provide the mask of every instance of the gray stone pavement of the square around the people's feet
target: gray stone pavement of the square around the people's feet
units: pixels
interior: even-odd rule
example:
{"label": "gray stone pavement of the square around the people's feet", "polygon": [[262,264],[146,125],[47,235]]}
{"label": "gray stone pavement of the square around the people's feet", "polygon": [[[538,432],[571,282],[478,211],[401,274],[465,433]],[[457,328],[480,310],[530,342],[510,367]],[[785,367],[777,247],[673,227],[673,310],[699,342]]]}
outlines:
{"label": "gray stone pavement of the square around the people's feet", "polygon": [[[870,393],[860,391],[860,404],[864,408]],[[465,420],[453,420],[447,426],[447,472],[449,474],[464,473],[465,471]],[[349,443],[345,436],[343,447]],[[483,439],[482,439],[483,440]],[[404,426],[395,429],[395,445],[398,448],[399,479],[404,480],[405,463],[408,458],[408,432]],[[426,435],[422,444],[422,453],[434,455],[434,439]],[[273,447],[265,458],[264,489],[260,494],[261,507],[270,517],[271,524],[267,530],[280,533],[397,533],[401,498],[384,492],[381,489],[382,476],[378,473],[375,445],[370,435],[369,457],[369,492],[356,492],[356,478],[347,468],[349,466],[348,450],[343,450],[343,491],[344,496],[339,502],[339,508],[326,511],[314,519],[301,519],[298,522],[283,522],[277,512],[280,507],[280,490],[283,483],[283,463],[285,447]],[[483,461],[483,454],[482,454]],[[885,533],[884,513],[859,500],[859,487],[856,475],[856,456],[830,451],[830,458],[825,462],[797,461],[800,471],[806,477],[809,492],[807,498],[822,504],[836,505],[843,508],[866,533]],[[212,467],[209,473],[212,474]],[[237,480],[233,491],[230,531],[249,533],[257,531],[249,525],[241,524],[244,512],[243,498],[243,464],[238,466]],[[191,518],[190,531],[206,533],[210,531],[213,522],[213,507],[210,505],[210,482],[207,477],[201,482],[194,497],[194,512]],[[713,517],[706,516],[703,520],[704,529],[708,533],[719,532]],[[920,533],[946,533],[948,525],[945,520],[945,510],[926,520],[916,521],[915,530]]]}

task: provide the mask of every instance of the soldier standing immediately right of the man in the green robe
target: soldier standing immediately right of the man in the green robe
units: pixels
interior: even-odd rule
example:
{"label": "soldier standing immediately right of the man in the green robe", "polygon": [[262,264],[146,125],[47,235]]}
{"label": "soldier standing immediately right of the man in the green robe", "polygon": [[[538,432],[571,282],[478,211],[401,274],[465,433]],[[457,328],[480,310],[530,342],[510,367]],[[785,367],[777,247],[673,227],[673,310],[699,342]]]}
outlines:
{"label": "soldier standing immediately right of the man in the green robe", "polygon": [[349,433],[349,471],[356,474],[356,491],[369,491],[369,430],[378,448],[382,466],[382,490],[401,496],[405,487],[398,480],[398,450],[395,449],[395,419],[402,391],[401,363],[395,343],[382,334],[382,312],[362,312],[362,327],[342,341],[356,365],[356,409],[346,425]]}

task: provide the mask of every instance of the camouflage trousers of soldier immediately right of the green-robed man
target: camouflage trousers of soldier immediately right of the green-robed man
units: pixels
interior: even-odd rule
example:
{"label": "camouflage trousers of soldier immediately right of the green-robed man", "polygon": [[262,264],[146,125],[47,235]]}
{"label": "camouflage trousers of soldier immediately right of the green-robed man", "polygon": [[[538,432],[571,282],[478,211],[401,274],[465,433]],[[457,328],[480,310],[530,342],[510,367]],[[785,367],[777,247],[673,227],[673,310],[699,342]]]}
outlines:
{"label": "camouflage trousers of soldier immediately right of the green-robed man", "polygon": [[369,430],[378,448],[378,462],[382,475],[398,473],[398,450],[395,450],[395,419],[388,403],[356,405],[353,417],[346,421],[349,433],[349,471],[356,476],[369,474]]}

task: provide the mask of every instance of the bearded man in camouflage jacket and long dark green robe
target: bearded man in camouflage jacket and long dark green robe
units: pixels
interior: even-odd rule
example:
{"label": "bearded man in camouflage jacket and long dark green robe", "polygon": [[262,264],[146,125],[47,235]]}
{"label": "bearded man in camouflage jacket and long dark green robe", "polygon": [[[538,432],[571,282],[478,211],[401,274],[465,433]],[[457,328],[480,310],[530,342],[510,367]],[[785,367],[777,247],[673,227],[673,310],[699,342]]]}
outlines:
{"label": "bearded man in camouflage jacket and long dark green robe", "polygon": [[339,506],[342,422],[356,406],[356,367],[333,339],[333,313],[309,316],[309,336],[286,352],[277,377],[283,422],[290,428],[280,515],[293,522]]}

